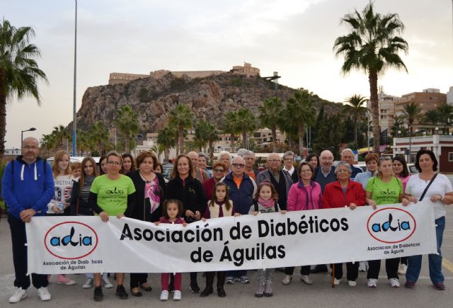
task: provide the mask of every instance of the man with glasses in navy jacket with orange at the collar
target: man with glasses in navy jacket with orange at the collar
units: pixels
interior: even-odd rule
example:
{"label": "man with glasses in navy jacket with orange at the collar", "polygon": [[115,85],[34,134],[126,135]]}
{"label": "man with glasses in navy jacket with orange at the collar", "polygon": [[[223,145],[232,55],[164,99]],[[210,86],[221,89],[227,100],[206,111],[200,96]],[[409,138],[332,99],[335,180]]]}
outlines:
{"label": "man with glasses in navy jacket with orange at the collar", "polygon": [[[222,179],[228,187],[228,197],[233,201],[234,211],[241,215],[248,214],[256,193],[256,183],[244,172],[245,169],[246,161],[241,156],[236,156],[231,163],[231,172]],[[235,281],[249,283],[246,270],[233,270],[226,276],[226,283],[230,285]]]}

